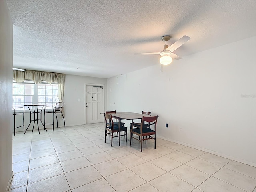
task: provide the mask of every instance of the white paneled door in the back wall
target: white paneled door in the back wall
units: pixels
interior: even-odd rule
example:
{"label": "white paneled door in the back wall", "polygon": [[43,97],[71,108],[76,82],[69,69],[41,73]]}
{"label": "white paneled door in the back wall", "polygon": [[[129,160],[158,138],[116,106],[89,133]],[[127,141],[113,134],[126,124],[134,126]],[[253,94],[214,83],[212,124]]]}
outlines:
{"label": "white paneled door in the back wall", "polygon": [[86,124],[102,122],[102,86],[86,85]]}

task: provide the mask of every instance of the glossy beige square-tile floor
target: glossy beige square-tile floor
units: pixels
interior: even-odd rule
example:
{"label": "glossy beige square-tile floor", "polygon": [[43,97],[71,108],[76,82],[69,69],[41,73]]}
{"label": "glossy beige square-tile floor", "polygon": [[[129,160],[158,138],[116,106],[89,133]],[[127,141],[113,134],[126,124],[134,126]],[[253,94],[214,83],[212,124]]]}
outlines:
{"label": "glossy beige square-tile floor", "polygon": [[[104,124],[13,138],[9,192],[256,192],[256,168],[157,139],[104,143]],[[128,135],[129,137],[129,135]]]}

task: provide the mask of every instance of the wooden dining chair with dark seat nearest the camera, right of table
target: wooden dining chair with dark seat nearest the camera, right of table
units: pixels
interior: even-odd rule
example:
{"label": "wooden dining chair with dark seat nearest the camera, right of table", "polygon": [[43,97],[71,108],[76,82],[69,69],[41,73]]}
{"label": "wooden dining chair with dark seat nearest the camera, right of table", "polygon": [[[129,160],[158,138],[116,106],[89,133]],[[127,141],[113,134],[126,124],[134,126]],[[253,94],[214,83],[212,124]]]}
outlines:
{"label": "wooden dining chair with dark seat nearest the camera, right of table", "polygon": [[[155,140],[155,149],[156,149],[156,122],[157,122],[157,118],[158,116],[151,116],[151,117],[142,117],[141,120],[141,124],[140,124],[140,128],[134,128],[134,126],[132,126],[131,128],[131,132],[130,132],[130,146],[132,143],[132,138],[139,140],[140,141],[140,150],[142,152],[142,142],[144,140],[149,140],[149,139],[154,139]],[[147,124],[147,123],[149,124]],[[154,125],[154,130],[151,129],[151,125]],[[133,134],[136,134],[139,136],[138,138],[133,137]],[[154,137],[152,136],[154,135]],[[144,138],[144,136],[146,136],[146,138]],[[147,138],[148,136],[148,138]]]}

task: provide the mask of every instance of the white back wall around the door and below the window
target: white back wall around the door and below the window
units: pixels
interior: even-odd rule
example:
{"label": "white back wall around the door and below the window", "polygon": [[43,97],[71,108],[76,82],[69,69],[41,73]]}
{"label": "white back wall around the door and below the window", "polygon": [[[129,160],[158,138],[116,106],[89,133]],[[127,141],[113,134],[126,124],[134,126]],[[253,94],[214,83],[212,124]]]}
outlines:
{"label": "white back wall around the door and below the window", "polygon": [[[65,122],[66,126],[74,126],[81,125],[86,123],[86,114],[85,114],[85,84],[101,84],[106,87],[107,79],[105,78],[94,78],[87,76],[76,76],[76,75],[67,75],[65,78],[65,88],[64,88],[64,110],[65,110]],[[104,88],[105,92],[105,100],[104,104],[106,105],[106,88]],[[81,101],[78,101],[78,98]],[[104,108],[106,108],[104,106]],[[103,111],[104,112],[104,111]],[[64,121],[58,116],[58,126],[64,126]],[[33,118],[33,117],[32,117]],[[13,117],[12,117],[13,121]],[[56,127],[56,118],[55,118],[54,127]],[[44,115],[42,114],[42,122],[44,123]],[[103,122],[103,116],[102,116]],[[25,130],[30,123],[30,113],[25,113]],[[32,130],[33,128],[32,122],[28,128],[28,130]],[[52,114],[46,114],[46,123],[52,123]],[[13,122],[12,122],[13,124]],[[38,122],[39,128],[43,129],[43,126],[40,122]],[[16,126],[22,125],[22,115],[16,116]],[[52,125],[46,125],[46,128],[49,128],[52,131]],[[23,131],[23,127],[17,128],[16,131]],[[34,131],[38,132],[37,124],[35,124]]]}

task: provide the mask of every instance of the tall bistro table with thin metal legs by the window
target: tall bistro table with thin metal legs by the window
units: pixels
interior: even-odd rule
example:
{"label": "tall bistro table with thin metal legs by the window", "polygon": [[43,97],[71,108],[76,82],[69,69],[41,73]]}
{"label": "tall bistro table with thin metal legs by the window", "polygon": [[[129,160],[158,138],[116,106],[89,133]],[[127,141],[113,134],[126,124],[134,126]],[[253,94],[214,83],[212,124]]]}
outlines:
{"label": "tall bistro table with thin metal legs by the window", "polygon": [[[30,111],[30,123],[28,124],[28,127],[30,126],[31,122],[34,121],[33,129],[32,129],[32,132],[33,132],[34,126],[35,126],[35,122],[37,122],[38,133],[40,134],[38,121],[40,120],[40,122],[44,126],[44,124],[42,122],[42,110],[43,110],[44,106],[46,106],[46,104],[40,104],[40,105],[38,105],[38,104],[31,104],[31,105],[24,105],[24,106],[27,106],[29,111]],[[42,108],[40,109],[41,106],[42,106]],[[32,115],[33,114],[34,114],[34,119],[32,119]],[[38,114],[40,114],[40,118],[38,118]],[[27,127],[26,131],[28,130],[28,127]],[[44,126],[44,130],[46,130],[45,126]],[[26,131],[24,132],[24,135],[25,135]]]}

